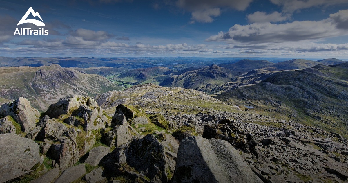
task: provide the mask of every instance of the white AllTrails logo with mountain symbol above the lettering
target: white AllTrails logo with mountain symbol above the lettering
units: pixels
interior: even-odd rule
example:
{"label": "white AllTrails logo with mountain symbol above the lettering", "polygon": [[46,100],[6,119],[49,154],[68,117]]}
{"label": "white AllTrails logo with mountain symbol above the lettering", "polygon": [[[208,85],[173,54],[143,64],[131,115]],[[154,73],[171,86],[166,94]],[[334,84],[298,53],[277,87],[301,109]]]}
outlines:
{"label": "white AllTrails logo with mountain symbol above the lettering", "polygon": [[[32,14],[34,17],[38,16],[40,18],[40,20],[43,21],[41,16],[40,16],[40,14],[39,14],[39,12],[35,13],[33,8],[30,7],[26,11],[26,13],[22,17],[22,19],[18,22],[17,25],[21,25],[23,23],[33,23],[36,26],[45,26],[44,22],[41,22],[39,20],[26,19],[29,16],[29,14]],[[35,36],[37,36],[37,35],[45,35],[45,36],[47,36],[48,35],[48,30],[45,30],[44,28],[40,28],[39,30],[35,30],[35,29],[31,29],[31,28],[21,28],[20,31],[19,31],[19,29],[16,28],[15,33],[13,35],[16,35],[16,34],[18,34],[20,36],[23,36],[23,35],[35,35]]]}

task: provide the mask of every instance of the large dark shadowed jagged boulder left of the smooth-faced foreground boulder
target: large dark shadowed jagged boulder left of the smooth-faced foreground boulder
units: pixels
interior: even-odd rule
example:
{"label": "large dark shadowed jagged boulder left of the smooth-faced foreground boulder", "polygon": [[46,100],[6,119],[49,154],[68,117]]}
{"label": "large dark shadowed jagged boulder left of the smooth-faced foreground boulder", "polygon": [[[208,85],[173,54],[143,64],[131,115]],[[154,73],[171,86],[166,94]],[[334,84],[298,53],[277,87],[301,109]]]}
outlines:
{"label": "large dark shadowed jagged boulder left of the smooth-faced foreground boulder", "polygon": [[133,181],[168,182],[165,147],[151,134],[118,147],[103,165],[114,176],[127,176]]}

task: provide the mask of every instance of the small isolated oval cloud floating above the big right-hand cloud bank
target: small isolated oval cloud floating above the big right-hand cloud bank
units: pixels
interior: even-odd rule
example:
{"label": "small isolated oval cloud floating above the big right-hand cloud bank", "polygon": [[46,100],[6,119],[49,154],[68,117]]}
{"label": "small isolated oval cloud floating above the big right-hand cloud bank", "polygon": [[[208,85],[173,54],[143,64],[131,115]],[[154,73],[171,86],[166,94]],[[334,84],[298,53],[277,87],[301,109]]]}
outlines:
{"label": "small isolated oval cloud floating above the big right-hand cloud bank", "polygon": [[247,15],[247,19],[250,23],[264,23],[264,22],[283,22],[290,18],[290,14],[283,15],[279,12],[273,12],[266,14],[265,12],[255,12]]}

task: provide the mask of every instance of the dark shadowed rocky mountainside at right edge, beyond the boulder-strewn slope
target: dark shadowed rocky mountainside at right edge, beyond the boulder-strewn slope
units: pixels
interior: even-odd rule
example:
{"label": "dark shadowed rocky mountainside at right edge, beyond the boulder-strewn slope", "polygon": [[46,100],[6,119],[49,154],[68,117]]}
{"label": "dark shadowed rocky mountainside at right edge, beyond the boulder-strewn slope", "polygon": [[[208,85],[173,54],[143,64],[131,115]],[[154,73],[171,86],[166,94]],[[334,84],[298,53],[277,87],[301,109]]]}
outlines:
{"label": "dark shadowed rocky mountainside at right edge, beyond the boulder-strewn slope", "polygon": [[[267,115],[348,132],[348,63],[271,74],[262,82],[226,91],[216,98],[244,99]],[[255,104],[255,103],[258,104]],[[266,112],[265,112],[266,111]]]}

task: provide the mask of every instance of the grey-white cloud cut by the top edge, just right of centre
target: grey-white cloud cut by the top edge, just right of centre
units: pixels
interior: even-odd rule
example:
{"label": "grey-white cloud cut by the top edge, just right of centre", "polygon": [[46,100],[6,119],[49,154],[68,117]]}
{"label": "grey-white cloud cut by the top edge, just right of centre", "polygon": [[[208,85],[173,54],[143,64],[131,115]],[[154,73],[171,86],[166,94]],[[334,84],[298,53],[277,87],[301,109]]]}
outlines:
{"label": "grey-white cloud cut by the top edge, just right of centre", "polygon": [[191,22],[211,23],[220,16],[220,8],[232,8],[238,11],[245,10],[253,0],[178,0],[176,5],[191,12]]}

